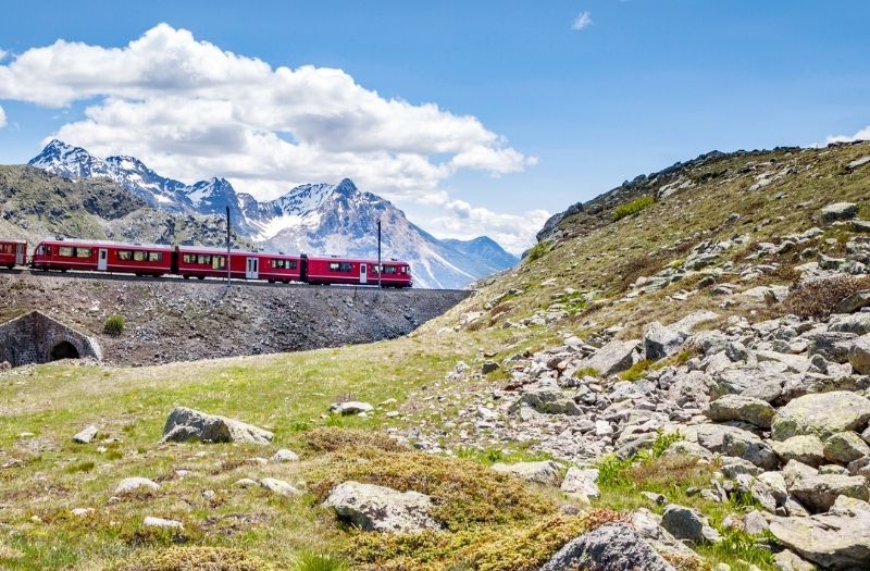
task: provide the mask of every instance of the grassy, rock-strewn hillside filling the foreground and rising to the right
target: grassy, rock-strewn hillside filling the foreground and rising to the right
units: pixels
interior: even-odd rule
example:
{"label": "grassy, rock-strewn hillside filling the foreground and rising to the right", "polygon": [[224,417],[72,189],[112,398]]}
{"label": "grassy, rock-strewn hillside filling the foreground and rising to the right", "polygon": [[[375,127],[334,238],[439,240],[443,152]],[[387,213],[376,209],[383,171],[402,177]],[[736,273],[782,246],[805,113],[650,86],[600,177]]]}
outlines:
{"label": "grassy, rock-strewn hillside filling the foreground and rising to the right", "polygon": [[399,339],[2,373],[0,560],[868,569],[868,188],[870,144],[712,153]]}

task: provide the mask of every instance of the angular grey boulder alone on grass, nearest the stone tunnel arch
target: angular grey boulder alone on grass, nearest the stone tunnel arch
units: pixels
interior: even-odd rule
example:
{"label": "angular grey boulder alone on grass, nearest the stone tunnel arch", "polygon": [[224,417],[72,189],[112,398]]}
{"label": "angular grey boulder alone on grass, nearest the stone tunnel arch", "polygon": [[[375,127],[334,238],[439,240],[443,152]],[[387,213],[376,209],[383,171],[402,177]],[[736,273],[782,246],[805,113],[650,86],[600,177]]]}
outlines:
{"label": "angular grey boulder alone on grass, nearest the stone tunnel arch", "polygon": [[175,407],[163,427],[162,442],[269,444],[274,435],[252,424],[186,407]]}

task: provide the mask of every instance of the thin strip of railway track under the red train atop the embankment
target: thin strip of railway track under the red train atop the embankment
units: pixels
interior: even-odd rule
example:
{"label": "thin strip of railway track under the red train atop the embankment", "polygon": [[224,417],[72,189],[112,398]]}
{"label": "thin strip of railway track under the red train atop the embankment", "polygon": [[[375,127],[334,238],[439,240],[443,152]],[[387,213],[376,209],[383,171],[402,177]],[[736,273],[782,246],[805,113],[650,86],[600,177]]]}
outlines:
{"label": "thin strip of railway track under the red train atop the embankment", "polygon": [[[170,282],[177,282],[177,283],[185,283],[185,284],[198,284],[203,287],[226,287],[226,280],[217,280],[213,277],[207,277],[204,280],[185,280],[179,275],[164,275],[160,277],[154,276],[138,276],[138,275],[129,275],[129,274],[114,274],[108,272],[78,272],[78,271],[69,271],[69,272],[46,272],[40,270],[0,270],[0,275],[32,275],[34,277],[42,277],[42,276],[52,276],[52,277],[64,277],[70,280],[103,280],[108,282],[133,282],[133,283],[170,283]],[[336,289],[344,289],[344,290],[368,290],[368,291],[378,291],[380,288],[376,284],[373,285],[314,285],[314,284],[307,284],[302,282],[291,282],[289,284],[270,284],[269,282],[262,281],[249,281],[249,280],[238,280],[234,278],[231,283],[232,287],[276,287],[276,288],[303,288],[303,289],[328,289],[328,290],[336,290]],[[473,290],[471,289],[430,289],[430,288],[422,288],[422,287],[388,287],[383,288],[386,291],[402,291],[408,294],[440,294],[440,293],[461,293],[465,291],[471,294]]]}

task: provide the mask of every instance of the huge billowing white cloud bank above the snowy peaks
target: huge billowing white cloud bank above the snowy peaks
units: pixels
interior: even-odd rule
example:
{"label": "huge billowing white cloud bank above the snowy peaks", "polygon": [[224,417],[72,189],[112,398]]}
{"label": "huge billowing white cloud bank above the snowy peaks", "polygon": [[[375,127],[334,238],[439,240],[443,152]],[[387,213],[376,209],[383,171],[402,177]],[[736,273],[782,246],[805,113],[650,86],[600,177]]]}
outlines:
{"label": "huge billowing white cloud bank above the snowy peaks", "polygon": [[386,198],[445,202],[438,185],[459,170],[499,175],[536,161],[474,116],[384,98],[341,70],[273,69],[166,24],[123,48],[29,49],[0,65],[2,99],[96,100],[52,136],[183,181],[226,176],[261,199],[348,176]]}

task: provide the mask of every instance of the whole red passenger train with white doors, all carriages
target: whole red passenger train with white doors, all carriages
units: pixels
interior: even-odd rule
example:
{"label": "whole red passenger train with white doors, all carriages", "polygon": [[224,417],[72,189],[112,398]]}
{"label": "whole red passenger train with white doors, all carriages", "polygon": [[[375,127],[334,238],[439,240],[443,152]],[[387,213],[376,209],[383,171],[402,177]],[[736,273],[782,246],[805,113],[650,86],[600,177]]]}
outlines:
{"label": "whole red passenger train with white doors, all carriages", "polygon": [[[11,245],[11,246],[9,246]],[[24,243],[0,240],[0,265],[24,265]],[[9,248],[9,255],[7,249]],[[18,253],[21,252],[21,253]],[[4,256],[10,256],[9,261]],[[197,246],[133,245],[100,240],[45,240],[30,259],[35,270],[82,270],[135,275],[181,275],[184,278],[226,277],[226,250]],[[385,287],[411,287],[408,262],[383,261]],[[377,261],[349,258],[309,258],[273,252],[229,252],[232,277],[270,283],[376,285]]]}

